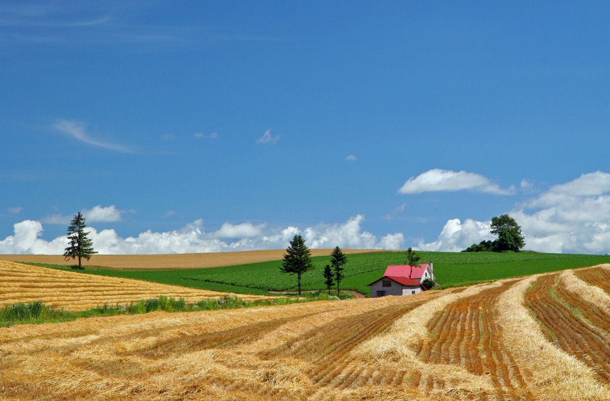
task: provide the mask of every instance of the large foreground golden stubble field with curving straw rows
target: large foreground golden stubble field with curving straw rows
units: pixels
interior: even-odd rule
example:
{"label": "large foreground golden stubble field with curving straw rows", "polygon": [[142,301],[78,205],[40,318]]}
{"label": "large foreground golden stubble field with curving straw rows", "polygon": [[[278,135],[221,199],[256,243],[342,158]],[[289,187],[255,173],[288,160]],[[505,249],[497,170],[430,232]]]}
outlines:
{"label": "large foreground golden stubble field with curving straw rows", "polygon": [[609,268],[0,328],[0,399],[609,400]]}

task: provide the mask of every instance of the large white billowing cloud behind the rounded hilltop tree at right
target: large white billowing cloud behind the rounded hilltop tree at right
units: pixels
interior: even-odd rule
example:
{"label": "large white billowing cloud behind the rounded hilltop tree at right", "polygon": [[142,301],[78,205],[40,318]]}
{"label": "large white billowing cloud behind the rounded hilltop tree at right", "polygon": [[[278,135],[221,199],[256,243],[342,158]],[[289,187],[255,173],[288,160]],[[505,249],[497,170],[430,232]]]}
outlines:
{"label": "large white billowing cloud behind the rounded hilltop tree at right", "polygon": [[[500,213],[498,213],[500,214]],[[596,171],[551,186],[508,212],[522,227],[525,249],[540,252],[610,253],[610,174]],[[492,240],[489,221],[451,219],[425,250],[462,250]]]}

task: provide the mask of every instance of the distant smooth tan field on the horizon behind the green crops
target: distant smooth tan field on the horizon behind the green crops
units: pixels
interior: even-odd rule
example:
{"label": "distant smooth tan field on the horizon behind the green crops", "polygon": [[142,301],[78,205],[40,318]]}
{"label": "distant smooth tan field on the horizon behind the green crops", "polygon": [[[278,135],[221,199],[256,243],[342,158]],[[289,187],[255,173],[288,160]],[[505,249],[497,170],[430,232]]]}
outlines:
{"label": "distant smooth tan field on the horizon behind the green crops", "polygon": [[[91,260],[82,260],[83,266],[113,269],[197,269],[234,266],[235,264],[281,260],[285,249],[245,250],[242,252],[210,252],[208,254],[171,255],[94,255]],[[312,256],[328,256],[332,249],[311,249]],[[343,249],[343,253],[364,254],[388,252],[387,250]],[[61,255],[0,255],[0,260],[48,264],[73,264]],[[78,264],[78,261],[76,261]]]}

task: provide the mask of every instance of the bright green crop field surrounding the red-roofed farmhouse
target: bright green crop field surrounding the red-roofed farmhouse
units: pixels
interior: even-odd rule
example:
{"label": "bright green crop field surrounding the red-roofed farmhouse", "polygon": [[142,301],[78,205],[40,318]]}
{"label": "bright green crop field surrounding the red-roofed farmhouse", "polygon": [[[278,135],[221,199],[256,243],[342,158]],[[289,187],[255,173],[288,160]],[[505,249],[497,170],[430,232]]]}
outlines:
{"label": "bright green crop field surrounding the red-roofed farmhouse", "polygon": [[[610,263],[610,256],[519,253],[461,253],[418,251],[421,262],[432,261],[437,282],[443,287],[468,285],[507,277]],[[342,289],[368,295],[368,284],[379,279],[389,264],[404,264],[403,252],[348,255]],[[324,289],[322,270],[330,257],[312,258],[315,269],[301,277],[303,289]],[[239,294],[268,294],[267,291],[295,291],[296,276],[279,271],[281,260],[239,264],[222,268],[184,270],[119,270],[86,268],[84,273],[126,277],[192,288]],[[38,264],[71,270],[67,266]]]}

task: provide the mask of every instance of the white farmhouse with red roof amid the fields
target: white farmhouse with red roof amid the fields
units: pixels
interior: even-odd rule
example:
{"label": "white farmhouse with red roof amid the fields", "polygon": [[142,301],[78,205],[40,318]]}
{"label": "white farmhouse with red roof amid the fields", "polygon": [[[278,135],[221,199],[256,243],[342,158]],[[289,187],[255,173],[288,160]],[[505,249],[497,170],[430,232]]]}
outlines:
{"label": "white farmhouse with red roof amid the fields", "polygon": [[432,269],[432,262],[422,263],[418,266],[410,266],[409,264],[387,266],[383,277],[369,284],[371,298],[386,295],[412,295],[426,291],[422,281],[436,279]]}

